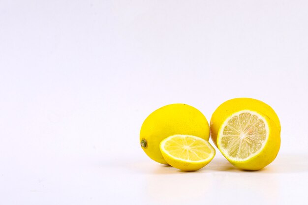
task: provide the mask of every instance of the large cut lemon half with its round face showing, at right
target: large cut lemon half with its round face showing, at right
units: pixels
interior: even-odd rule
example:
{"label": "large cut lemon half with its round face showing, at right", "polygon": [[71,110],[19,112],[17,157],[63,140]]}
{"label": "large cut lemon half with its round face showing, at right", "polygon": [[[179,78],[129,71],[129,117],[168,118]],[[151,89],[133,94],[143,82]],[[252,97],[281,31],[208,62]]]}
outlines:
{"label": "large cut lemon half with its round face showing, at right", "polygon": [[217,145],[225,158],[237,168],[260,170],[276,158],[280,132],[277,124],[263,113],[242,110],[222,123]]}

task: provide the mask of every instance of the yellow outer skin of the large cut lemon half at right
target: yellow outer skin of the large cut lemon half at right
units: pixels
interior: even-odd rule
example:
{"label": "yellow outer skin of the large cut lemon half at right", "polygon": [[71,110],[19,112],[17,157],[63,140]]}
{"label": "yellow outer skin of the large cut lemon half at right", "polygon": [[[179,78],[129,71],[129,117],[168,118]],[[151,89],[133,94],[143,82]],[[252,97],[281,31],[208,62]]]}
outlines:
{"label": "yellow outer skin of the large cut lemon half at right", "polygon": [[[255,112],[255,111],[254,111]],[[218,137],[217,137],[217,143],[218,143],[218,149],[221,151],[222,155],[235,167],[243,170],[250,170],[250,171],[256,171],[263,169],[267,165],[269,165],[271,162],[274,161],[276,158],[278,151],[280,149],[280,131],[277,128],[277,124],[271,120],[266,115],[259,113],[262,117],[265,118],[266,122],[269,126],[269,136],[268,140],[263,147],[263,149],[255,156],[245,160],[245,161],[236,161],[231,160],[226,153],[223,153],[221,151],[221,147],[219,144],[220,141],[220,132],[222,127],[218,131]],[[224,123],[224,122],[223,122]]]}

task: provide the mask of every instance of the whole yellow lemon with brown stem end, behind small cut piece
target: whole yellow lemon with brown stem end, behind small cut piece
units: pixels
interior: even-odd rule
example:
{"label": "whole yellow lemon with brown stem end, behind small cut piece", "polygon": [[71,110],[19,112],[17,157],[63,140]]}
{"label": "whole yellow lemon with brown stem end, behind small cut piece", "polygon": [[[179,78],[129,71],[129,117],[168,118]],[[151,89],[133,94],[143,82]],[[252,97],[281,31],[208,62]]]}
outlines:
{"label": "whole yellow lemon with brown stem end, behind small cut piece", "polygon": [[160,142],[175,134],[194,135],[209,140],[210,128],[207,119],[196,108],[186,104],[171,104],[149,115],[140,130],[140,145],[156,162],[168,164],[163,158]]}

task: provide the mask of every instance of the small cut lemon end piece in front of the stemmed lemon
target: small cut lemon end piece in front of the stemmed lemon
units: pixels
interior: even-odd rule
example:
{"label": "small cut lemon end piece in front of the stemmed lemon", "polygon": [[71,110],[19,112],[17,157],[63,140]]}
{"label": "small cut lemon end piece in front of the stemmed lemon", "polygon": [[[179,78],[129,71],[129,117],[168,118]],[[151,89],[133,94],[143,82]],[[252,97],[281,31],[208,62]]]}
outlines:
{"label": "small cut lemon end piece in front of the stemmed lemon", "polygon": [[168,164],[183,171],[199,170],[215,156],[208,141],[192,135],[167,137],[161,141],[160,151]]}

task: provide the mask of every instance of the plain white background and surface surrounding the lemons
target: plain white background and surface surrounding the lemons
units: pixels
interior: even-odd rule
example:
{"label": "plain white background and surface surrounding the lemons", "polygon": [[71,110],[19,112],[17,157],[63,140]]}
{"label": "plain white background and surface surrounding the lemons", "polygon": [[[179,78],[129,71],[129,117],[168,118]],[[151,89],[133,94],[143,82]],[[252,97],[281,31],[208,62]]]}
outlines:
{"label": "plain white background and surface surrounding the lemons", "polygon": [[[306,0],[0,0],[0,204],[307,204],[307,90]],[[235,97],[280,118],[264,170],[140,148],[155,109]]]}

